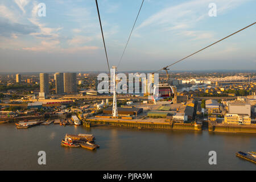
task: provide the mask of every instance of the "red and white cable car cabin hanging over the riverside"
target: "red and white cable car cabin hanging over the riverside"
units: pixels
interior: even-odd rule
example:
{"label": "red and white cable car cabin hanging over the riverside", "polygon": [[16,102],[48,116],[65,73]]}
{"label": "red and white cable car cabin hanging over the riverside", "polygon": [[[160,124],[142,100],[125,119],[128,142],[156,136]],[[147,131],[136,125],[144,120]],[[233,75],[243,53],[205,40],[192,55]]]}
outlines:
{"label": "red and white cable car cabin hanging over the riverside", "polygon": [[[156,89],[158,88],[158,94],[156,93]],[[167,98],[167,97],[174,97],[174,90],[170,84],[157,84],[154,85],[154,96]]]}

